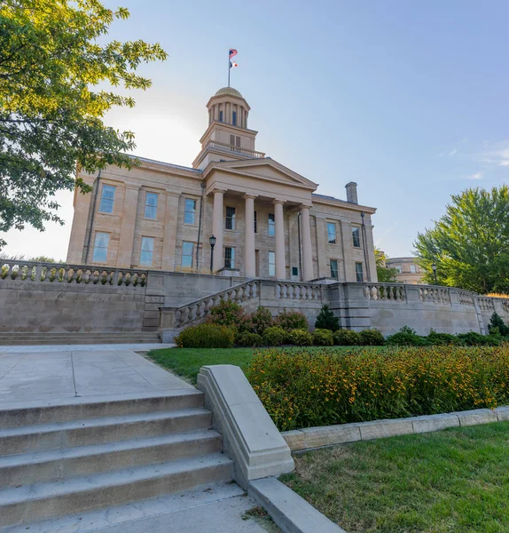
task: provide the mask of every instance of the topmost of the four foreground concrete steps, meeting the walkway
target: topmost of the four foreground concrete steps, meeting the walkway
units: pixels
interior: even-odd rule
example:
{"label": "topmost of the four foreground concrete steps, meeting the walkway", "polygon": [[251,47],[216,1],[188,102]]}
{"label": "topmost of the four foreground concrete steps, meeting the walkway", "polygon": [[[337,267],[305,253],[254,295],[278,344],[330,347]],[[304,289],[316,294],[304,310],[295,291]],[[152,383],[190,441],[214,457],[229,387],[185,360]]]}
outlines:
{"label": "topmost of the four foreground concrete steps, meeting the walkway", "polygon": [[203,394],[189,387],[164,394],[140,396],[98,396],[70,398],[67,401],[26,402],[5,404],[0,408],[0,427],[20,427],[34,424],[55,424],[71,420],[100,417],[121,417],[138,413],[153,413],[169,410],[192,409],[203,406]]}

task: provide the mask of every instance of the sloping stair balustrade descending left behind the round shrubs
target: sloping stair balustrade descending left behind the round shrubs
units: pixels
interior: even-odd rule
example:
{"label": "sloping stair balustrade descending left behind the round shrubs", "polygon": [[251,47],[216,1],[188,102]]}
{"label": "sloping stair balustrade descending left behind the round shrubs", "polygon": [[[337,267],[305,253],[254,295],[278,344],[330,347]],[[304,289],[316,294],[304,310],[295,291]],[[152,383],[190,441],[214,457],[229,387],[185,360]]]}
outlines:
{"label": "sloping stair balustrade descending left behind the round shrubs", "polygon": [[180,329],[192,325],[192,322],[205,318],[212,307],[224,301],[244,302],[258,298],[260,282],[258,280],[239,283],[228,289],[216,292],[212,296],[200,298],[179,307],[161,307],[161,329]]}

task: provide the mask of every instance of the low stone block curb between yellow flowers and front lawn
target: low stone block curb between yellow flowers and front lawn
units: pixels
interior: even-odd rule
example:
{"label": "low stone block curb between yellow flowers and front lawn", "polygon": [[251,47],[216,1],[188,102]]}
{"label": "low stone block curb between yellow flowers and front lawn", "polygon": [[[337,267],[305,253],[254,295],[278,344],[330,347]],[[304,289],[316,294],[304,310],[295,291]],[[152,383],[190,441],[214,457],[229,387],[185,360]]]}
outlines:
{"label": "low stone block curb between yellow flowers and front lawn", "polygon": [[396,435],[429,433],[446,427],[476,426],[505,420],[509,420],[509,406],[497,407],[494,410],[476,409],[422,417],[308,427],[285,431],[281,434],[292,451],[300,451]]}

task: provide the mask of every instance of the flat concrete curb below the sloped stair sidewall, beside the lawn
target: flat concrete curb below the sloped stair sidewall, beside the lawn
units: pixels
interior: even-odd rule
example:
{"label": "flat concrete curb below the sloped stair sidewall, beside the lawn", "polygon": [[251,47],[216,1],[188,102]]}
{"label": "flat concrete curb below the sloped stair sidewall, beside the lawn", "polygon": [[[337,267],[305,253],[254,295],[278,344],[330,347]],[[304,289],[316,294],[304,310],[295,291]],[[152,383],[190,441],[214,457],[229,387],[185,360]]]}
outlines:
{"label": "flat concrete curb below the sloped stair sidewall, beside the lawn", "polygon": [[283,533],[346,533],[276,478],[250,481],[248,495]]}

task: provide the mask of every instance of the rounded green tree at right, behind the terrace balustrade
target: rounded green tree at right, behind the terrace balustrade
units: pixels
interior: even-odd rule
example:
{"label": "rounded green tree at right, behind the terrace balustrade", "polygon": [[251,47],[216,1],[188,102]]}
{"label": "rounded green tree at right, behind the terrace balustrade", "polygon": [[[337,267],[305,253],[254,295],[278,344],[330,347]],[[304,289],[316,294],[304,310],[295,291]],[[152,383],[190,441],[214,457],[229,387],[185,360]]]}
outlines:
{"label": "rounded green tree at right, behind the terrace balustrade", "polygon": [[425,281],[482,294],[509,290],[509,189],[466,189],[451,196],[435,227],[414,243]]}

